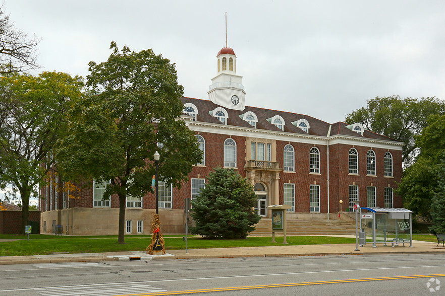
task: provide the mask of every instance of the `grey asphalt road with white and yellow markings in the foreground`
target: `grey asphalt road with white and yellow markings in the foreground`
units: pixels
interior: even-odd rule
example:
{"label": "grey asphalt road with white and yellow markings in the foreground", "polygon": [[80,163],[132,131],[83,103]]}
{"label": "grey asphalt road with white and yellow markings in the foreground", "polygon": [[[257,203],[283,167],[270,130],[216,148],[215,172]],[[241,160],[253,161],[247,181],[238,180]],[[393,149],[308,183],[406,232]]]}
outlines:
{"label": "grey asphalt road with white and yellow markings in the foreground", "polygon": [[[442,287],[436,290],[438,281]],[[190,293],[445,295],[445,256],[349,255],[0,265],[0,295]]]}

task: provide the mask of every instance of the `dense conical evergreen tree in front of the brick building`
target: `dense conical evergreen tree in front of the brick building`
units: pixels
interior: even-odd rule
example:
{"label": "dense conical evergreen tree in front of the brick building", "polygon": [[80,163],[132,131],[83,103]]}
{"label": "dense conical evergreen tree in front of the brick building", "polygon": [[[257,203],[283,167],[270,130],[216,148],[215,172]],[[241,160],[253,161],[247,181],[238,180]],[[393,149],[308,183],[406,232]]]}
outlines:
{"label": "dense conical evergreen tree in front of the brick building", "polygon": [[253,186],[234,169],[215,168],[192,201],[193,234],[207,238],[245,238],[261,219],[253,208]]}

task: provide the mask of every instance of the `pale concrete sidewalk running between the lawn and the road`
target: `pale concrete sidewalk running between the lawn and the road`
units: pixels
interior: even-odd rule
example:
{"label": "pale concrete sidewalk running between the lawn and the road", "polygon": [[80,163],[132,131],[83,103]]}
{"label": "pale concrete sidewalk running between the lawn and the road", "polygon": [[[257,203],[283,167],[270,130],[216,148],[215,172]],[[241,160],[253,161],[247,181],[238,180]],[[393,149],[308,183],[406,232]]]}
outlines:
{"label": "pale concrete sidewalk running between the lawn and the road", "polygon": [[5,256],[0,257],[0,265],[4,264],[37,264],[37,263],[63,263],[63,262],[100,262],[100,261],[131,261],[131,260],[165,260],[165,259],[194,259],[194,258],[233,258],[233,257],[279,257],[279,256],[321,256],[321,255],[367,255],[367,254],[445,254],[445,248],[437,243],[413,241],[392,247],[377,244],[373,248],[367,243],[365,247],[355,250],[355,244],[334,245],[305,245],[305,246],[267,246],[244,248],[215,248],[171,250],[161,256],[148,255],[145,252],[110,252],[85,254],[52,254],[34,256]]}

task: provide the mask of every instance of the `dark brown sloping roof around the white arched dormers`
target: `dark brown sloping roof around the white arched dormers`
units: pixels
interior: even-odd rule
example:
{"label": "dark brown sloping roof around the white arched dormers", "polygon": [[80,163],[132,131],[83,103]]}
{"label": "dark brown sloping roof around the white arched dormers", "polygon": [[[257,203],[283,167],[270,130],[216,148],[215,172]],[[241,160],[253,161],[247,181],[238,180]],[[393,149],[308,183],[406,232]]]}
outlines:
{"label": "dark brown sloping roof around the white arched dormers", "polygon": [[[183,104],[185,103],[192,103],[196,106],[198,109],[198,115],[196,117],[196,121],[201,122],[207,122],[207,123],[214,123],[214,124],[222,124],[217,118],[210,115],[210,111],[214,110],[217,107],[222,107],[219,105],[214,104],[210,100],[201,100],[201,99],[195,99],[195,98],[187,98],[183,97],[181,98]],[[222,107],[224,108],[224,107]],[[251,128],[252,126],[245,120],[241,119],[239,115],[242,115],[248,111],[251,111],[255,113],[255,115],[258,117],[258,122],[256,125],[256,129],[263,129],[263,130],[270,130],[270,131],[281,131],[281,129],[277,128],[272,123],[269,123],[267,121],[268,118],[271,118],[275,115],[280,115],[285,120],[285,126],[284,126],[284,132],[290,132],[290,133],[297,133],[302,135],[314,135],[314,136],[327,136],[328,130],[329,130],[329,123],[316,119],[312,116],[304,115],[304,114],[298,114],[298,113],[291,113],[286,111],[277,111],[277,110],[271,110],[271,109],[263,109],[258,107],[250,107],[246,106],[244,110],[232,110],[228,108],[224,108],[229,115],[229,118],[227,119],[227,125],[232,126],[239,126],[239,127],[246,127]],[[292,124],[292,122],[300,120],[300,119],[306,119],[309,123],[309,132],[304,132],[301,128],[295,126]],[[386,136],[373,133],[368,130],[364,130],[363,136],[357,134],[355,131],[350,130],[346,127],[347,124],[344,122],[337,122],[333,123],[330,135],[345,135],[345,136],[351,136],[351,137],[358,137],[358,138],[369,138],[369,139],[376,139],[376,140],[386,140],[386,141],[395,141],[394,139],[388,138]],[[397,141],[395,141],[397,142]]]}

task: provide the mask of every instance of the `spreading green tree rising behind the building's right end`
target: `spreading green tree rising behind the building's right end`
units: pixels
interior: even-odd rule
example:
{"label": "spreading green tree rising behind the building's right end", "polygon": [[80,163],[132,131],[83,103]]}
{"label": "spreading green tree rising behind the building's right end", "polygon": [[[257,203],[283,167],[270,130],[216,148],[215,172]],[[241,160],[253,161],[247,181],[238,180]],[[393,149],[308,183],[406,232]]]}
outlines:
{"label": "spreading green tree rising behind the building's right end", "polygon": [[445,102],[434,97],[376,97],[368,100],[366,107],[346,115],[345,121],[348,124],[360,122],[372,132],[404,142],[402,161],[408,167],[419,153],[414,136],[420,134],[433,114],[445,114]]}

